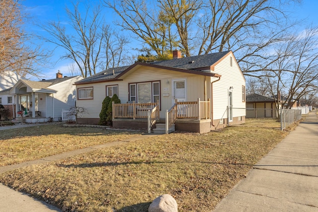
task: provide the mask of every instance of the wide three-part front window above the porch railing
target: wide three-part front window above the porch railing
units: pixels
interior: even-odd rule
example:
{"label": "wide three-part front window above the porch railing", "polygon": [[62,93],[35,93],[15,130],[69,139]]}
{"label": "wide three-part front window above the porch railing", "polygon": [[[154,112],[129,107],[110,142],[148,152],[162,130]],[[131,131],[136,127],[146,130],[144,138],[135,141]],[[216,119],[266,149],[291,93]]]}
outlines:
{"label": "wide three-part front window above the porch railing", "polygon": [[136,101],[136,103],[160,102],[160,82],[129,84],[129,101]]}

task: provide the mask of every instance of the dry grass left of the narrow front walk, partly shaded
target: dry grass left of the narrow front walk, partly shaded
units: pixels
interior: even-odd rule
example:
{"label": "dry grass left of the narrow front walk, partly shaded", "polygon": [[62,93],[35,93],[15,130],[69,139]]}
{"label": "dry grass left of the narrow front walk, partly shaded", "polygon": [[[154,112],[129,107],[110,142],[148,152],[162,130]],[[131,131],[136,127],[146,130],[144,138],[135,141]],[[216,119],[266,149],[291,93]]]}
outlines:
{"label": "dry grass left of the narrow front walk, partly shaded", "polygon": [[98,128],[64,128],[61,125],[2,130],[0,166],[59,154],[87,146],[123,141],[136,132],[117,132]]}

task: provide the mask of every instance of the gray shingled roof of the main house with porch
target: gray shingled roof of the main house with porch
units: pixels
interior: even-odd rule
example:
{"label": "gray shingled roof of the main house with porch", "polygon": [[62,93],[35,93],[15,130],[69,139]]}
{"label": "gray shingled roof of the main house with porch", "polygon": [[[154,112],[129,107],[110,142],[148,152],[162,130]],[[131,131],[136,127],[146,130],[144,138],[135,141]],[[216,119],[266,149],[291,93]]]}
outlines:
{"label": "gray shingled roof of the main house with porch", "polygon": [[[230,51],[218,52],[218,53],[213,53],[208,55],[198,55],[198,56],[186,57],[186,58],[178,58],[178,59],[172,59],[172,60],[166,60],[166,61],[151,62],[149,64],[161,66],[163,68],[169,67],[169,68],[177,68],[177,69],[184,69],[184,70],[197,70],[199,68],[212,66],[229,52]],[[140,64],[143,64],[143,63],[140,63]],[[124,66],[124,67],[107,69],[105,71],[101,71],[92,76],[81,79],[78,82],[83,83],[83,82],[115,79],[120,73],[122,73],[123,71],[126,71],[132,66]]]}

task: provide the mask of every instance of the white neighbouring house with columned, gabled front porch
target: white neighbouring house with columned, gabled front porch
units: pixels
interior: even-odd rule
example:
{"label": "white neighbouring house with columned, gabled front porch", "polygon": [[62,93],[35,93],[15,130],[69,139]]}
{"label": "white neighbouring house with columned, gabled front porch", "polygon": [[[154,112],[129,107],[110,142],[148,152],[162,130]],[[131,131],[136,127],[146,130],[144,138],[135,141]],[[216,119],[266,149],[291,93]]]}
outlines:
{"label": "white neighbouring house with columned, gabled front porch", "polygon": [[74,83],[83,77],[64,76],[59,71],[55,79],[31,81],[19,79],[6,92],[14,96],[14,115],[19,111],[29,123],[60,121],[63,109],[75,106],[76,86]]}

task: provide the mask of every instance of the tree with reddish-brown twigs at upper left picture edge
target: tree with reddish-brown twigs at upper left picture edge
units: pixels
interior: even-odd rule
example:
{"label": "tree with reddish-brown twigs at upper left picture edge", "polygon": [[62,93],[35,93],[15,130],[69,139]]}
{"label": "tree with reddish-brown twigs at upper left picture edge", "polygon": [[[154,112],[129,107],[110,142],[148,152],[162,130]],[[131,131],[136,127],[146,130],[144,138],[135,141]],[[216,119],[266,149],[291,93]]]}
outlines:
{"label": "tree with reddish-brown twigs at upper left picture edge", "polygon": [[38,76],[37,65],[47,62],[48,55],[23,31],[27,15],[22,11],[17,0],[0,1],[0,73]]}

